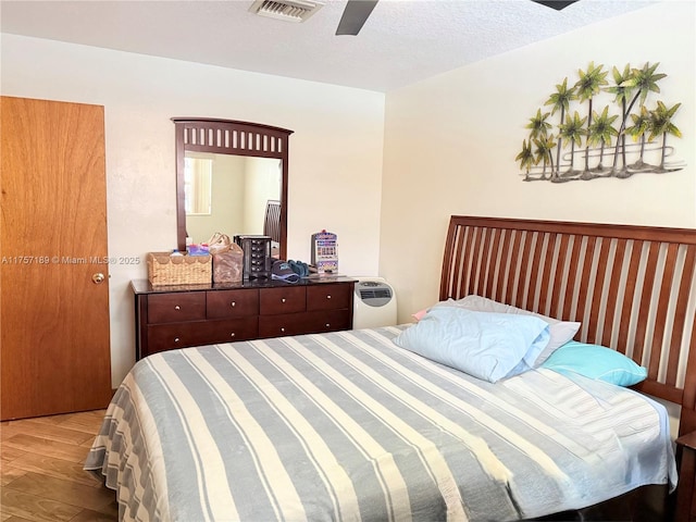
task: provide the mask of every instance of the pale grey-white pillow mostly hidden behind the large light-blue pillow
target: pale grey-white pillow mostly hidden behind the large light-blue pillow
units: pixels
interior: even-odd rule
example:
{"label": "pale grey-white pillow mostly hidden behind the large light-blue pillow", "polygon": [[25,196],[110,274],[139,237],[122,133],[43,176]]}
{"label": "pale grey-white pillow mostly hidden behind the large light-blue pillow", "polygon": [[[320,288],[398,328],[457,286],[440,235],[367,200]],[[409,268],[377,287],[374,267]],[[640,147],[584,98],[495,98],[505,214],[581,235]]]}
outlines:
{"label": "pale grey-white pillow mostly hidden behind the large light-blue pillow", "polygon": [[505,304],[502,302],[494,301],[493,299],[488,299],[486,297],[481,296],[467,296],[463,299],[459,299],[455,301],[453,299],[448,299],[447,301],[442,301],[436,307],[457,307],[463,308],[465,310],[472,310],[474,312],[493,312],[493,313],[514,313],[521,315],[534,315],[536,318],[543,319],[549,324],[549,341],[546,345],[546,348],[542,350],[539,356],[536,358],[533,368],[538,368],[540,364],[548,359],[548,357],[554,353],[558,348],[563,346],[569,340],[575,336],[577,331],[580,330],[580,323],[571,322],[571,321],[559,321],[558,319],[548,318],[546,315],[542,315],[540,313],[531,312],[529,310],[524,310],[522,308],[515,308],[510,304]]}

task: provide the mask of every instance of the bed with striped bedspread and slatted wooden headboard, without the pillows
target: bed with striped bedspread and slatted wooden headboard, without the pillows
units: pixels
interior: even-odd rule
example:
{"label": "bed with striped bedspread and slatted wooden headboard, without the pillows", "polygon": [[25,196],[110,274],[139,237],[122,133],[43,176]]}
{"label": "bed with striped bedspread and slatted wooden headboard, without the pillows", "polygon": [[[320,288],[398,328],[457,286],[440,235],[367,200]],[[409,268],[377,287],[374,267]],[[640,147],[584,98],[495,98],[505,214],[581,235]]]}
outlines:
{"label": "bed with striped bedspread and slatted wooden headboard, without the pillows", "polygon": [[[85,469],[122,520],[660,520],[676,470],[645,394],[696,428],[695,251],[686,229],[452,216],[427,320],[148,357]],[[460,310],[471,297],[580,323],[568,344],[625,353],[646,378],[486,380],[397,346],[438,315],[500,319]],[[546,346],[526,312],[505,323]]]}

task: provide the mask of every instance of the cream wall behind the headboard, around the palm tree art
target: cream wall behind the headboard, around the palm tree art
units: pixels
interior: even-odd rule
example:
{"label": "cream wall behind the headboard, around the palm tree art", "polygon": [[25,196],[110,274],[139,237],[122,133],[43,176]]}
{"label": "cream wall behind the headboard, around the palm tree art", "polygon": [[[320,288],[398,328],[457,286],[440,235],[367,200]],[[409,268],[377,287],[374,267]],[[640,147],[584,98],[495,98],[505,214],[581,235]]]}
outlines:
{"label": "cream wall behind the headboard, around the palm tree art", "polygon": [[[395,285],[401,322],[437,300],[450,214],[696,227],[695,18],[694,2],[666,1],[387,94],[380,273]],[[620,71],[660,62],[668,77],[647,105],[682,103],[673,122],[683,138],[669,144],[684,170],[521,181],[529,119],[592,61]]]}

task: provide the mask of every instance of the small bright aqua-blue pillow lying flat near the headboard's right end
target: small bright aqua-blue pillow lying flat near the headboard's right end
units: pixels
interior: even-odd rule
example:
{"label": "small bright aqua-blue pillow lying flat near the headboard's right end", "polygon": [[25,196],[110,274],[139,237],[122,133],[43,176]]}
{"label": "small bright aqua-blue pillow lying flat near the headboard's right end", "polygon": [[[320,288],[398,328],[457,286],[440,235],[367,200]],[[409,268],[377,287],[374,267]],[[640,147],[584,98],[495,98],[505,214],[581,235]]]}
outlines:
{"label": "small bright aqua-blue pillow lying flat near the headboard's right end", "polygon": [[648,371],[623,353],[599,345],[571,340],[542,364],[559,373],[579,373],[595,381],[631,386],[644,381]]}

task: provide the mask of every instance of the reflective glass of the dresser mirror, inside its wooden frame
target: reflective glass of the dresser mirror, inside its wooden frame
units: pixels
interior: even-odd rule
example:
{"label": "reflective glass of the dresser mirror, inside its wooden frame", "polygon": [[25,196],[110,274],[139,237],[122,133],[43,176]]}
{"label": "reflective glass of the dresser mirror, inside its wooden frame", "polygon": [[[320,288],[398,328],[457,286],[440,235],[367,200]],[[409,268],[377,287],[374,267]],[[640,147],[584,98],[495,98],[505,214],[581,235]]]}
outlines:
{"label": "reflective glass of the dresser mirror, inside its wooden frame", "polygon": [[[185,164],[186,232],[192,243],[206,243],[215,232],[266,234],[268,202],[281,199],[281,160],[187,151]],[[209,211],[192,211],[206,208],[206,194],[212,196]],[[277,249],[279,238],[274,239]]]}

